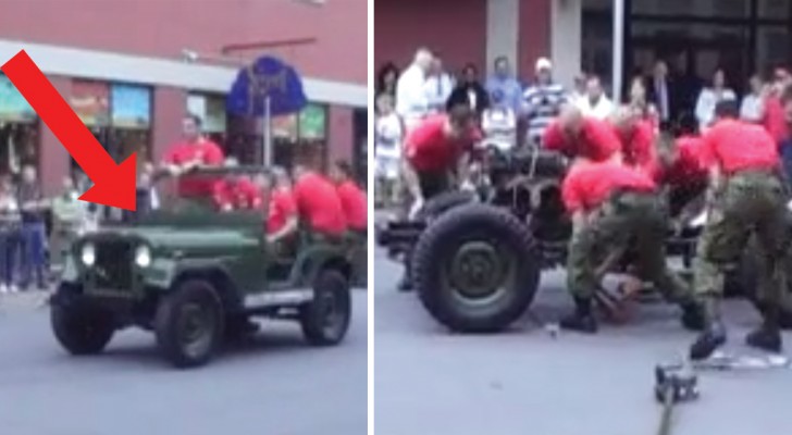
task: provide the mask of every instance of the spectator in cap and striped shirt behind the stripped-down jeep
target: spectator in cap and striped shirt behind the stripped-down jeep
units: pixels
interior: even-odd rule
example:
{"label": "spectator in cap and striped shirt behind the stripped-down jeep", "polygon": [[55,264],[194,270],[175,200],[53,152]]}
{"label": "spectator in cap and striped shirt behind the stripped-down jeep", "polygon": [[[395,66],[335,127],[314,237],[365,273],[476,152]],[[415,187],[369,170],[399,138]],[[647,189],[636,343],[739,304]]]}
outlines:
{"label": "spectator in cap and striped shirt behind the stripped-down jeep", "polygon": [[525,139],[529,145],[539,147],[542,136],[561,107],[568,102],[567,91],[553,80],[553,63],[547,58],[536,61],[536,83],[522,95],[523,113],[528,124]]}

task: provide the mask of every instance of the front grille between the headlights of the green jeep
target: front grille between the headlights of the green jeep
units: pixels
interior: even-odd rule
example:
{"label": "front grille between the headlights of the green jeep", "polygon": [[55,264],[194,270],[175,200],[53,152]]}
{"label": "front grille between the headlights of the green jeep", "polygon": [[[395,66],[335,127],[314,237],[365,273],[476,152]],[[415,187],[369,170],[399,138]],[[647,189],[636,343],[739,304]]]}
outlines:
{"label": "front grille between the headlights of the green jeep", "polygon": [[94,286],[99,290],[132,290],[134,249],[124,240],[96,244],[96,263],[91,268]]}

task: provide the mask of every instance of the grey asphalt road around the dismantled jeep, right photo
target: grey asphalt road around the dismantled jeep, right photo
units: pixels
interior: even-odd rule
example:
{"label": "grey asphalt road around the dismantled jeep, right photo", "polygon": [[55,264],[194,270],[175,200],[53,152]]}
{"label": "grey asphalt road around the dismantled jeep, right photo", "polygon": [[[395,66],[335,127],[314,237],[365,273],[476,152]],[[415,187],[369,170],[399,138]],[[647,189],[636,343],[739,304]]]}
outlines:
{"label": "grey asphalt road around the dismantled jeep, right photo", "polygon": [[[413,294],[396,293],[399,272],[375,253],[376,435],[656,433],[653,368],[678,359],[694,337],[672,308],[642,306],[631,324],[553,338],[537,321],[555,322],[571,307],[564,274],[554,272],[513,331],[451,335]],[[727,350],[750,352],[743,336],[757,315],[742,301],[730,301],[727,315]],[[792,334],[784,338],[792,348]],[[708,372],[700,383],[700,400],[676,413],[675,435],[790,433],[792,369]]]}

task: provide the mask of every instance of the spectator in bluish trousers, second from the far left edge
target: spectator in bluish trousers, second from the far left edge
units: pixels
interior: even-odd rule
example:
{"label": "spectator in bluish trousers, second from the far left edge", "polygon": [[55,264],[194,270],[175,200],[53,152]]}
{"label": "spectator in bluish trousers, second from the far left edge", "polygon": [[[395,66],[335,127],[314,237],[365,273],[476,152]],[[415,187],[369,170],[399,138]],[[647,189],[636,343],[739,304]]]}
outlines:
{"label": "spectator in bluish trousers, second from the far left edge", "polygon": [[27,289],[34,275],[39,289],[47,288],[46,237],[44,212],[48,208],[41,194],[36,169],[26,165],[22,170],[17,198],[22,210],[22,288]]}

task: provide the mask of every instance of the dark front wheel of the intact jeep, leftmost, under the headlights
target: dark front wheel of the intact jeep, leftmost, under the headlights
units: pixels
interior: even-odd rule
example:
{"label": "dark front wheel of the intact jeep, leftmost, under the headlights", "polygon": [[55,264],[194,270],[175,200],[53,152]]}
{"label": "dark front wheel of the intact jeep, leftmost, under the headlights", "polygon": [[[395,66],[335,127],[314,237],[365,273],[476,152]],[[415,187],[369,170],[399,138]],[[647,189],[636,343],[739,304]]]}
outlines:
{"label": "dark front wheel of the intact jeep, leftmost, under the headlights", "polygon": [[99,353],[115,333],[111,314],[78,302],[52,304],[50,323],[58,343],[72,355]]}

